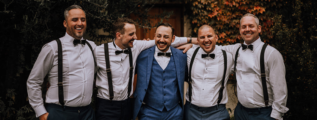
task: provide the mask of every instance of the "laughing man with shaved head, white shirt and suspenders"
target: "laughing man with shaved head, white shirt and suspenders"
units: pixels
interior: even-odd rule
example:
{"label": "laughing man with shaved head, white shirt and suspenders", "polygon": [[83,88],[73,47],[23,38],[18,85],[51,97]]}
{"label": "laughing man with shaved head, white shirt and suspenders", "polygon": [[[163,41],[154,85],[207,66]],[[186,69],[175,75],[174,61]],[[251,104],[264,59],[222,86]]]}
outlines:
{"label": "laughing man with shaved head, white shirt and suspenders", "polygon": [[218,36],[209,25],[198,29],[198,48],[187,51],[190,71],[184,105],[185,120],[229,120],[227,81],[233,71],[232,54],[222,51]]}

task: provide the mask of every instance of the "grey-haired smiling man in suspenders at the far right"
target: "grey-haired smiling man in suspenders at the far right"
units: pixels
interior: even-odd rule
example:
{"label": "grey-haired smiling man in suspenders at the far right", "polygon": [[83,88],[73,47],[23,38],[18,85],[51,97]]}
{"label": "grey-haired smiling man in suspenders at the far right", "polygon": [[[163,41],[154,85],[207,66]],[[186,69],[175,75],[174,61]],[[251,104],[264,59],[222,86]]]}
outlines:
{"label": "grey-haired smiling man in suspenders at the far right", "polygon": [[259,37],[261,28],[255,15],[245,14],[239,28],[244,43],[220,46],[236,59],[236,120],[281,120],[288,111],[283,57],[272,46],[265,48]]}

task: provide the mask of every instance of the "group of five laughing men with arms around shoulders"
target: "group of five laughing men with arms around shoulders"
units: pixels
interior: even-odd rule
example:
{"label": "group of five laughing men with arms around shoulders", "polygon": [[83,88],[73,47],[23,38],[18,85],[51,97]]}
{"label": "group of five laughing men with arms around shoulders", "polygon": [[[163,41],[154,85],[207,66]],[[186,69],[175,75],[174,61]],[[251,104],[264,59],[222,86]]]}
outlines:
{"label": "group of five laughing men with arms around shoulders", "polygon": [[[113,42],[96,46],[83,39],[86,15],[80,6],[68,7],[64,17],[65,36],[43,46],[27,81],[29,102],[40,120],[229,120],[226,83],[232,73],[239,100],[235,119],[281,120],[288,111],[283,58],[261,42],[253,14],[240,20],[244,43],[227,46],[216,45],[218,36],[208,25],[200,26],[197,40],[176,37],[169,23],[157,26],[154,40],[136,40],[134,21],[128,18],[113,22]],[[183,51],[173,48],[181,44]],[[44,106],[45,76],[50,87]],[[184,82],[189,84],[185,103]]]}

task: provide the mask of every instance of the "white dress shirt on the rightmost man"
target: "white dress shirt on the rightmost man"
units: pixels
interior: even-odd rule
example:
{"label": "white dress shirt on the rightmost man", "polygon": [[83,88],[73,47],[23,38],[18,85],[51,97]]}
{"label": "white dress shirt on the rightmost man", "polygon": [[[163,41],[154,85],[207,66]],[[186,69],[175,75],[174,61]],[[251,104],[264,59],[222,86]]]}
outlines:
{"label": "white dress shirt on the rightmost man", "polygon": [[[245,42],[244,44],[246,45]],[[260,69],[260,53],[264,43],[259,38],[251,44],[253,45],[253,51],[239,49],[236,65],[238,100],[241,105],[248,108],[265,107]],[[235,56],[239,46],[241,46],[240,43],[219,47]],[[273,108],[271,117],[282,119],[281,116],[288,111],[286,107],[285,66],[282,55],[275,48],[268,45],[264,53],[264,64],[269,98],[268,105]]]}

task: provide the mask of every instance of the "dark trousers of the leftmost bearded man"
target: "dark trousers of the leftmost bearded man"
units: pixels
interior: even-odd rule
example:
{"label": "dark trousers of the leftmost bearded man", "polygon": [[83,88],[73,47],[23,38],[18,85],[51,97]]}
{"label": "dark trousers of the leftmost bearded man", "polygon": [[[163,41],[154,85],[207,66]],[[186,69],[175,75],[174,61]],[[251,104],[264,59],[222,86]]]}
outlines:
{"label": "dark trousers of the leftmost bearded man", "polygon": [[48,103],[46,111],[49,113],[47,120],[95,120],[93,108],[88,106],[68,107]]}

